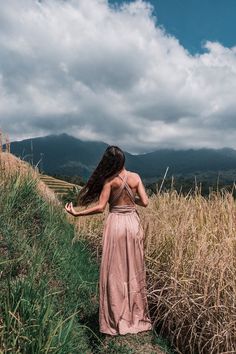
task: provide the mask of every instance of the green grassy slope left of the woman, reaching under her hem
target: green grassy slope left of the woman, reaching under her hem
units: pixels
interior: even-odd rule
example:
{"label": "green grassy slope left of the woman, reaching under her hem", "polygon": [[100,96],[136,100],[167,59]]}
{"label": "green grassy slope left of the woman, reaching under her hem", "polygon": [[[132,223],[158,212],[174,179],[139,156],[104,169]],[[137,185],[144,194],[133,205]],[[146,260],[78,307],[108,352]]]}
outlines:
{"label": "green grassy slope left of the woman, reaching under her hem", "polygon": [[162,353],[154,335],[99,333],[97,263],[36,184],[0,168],[0,353]]}

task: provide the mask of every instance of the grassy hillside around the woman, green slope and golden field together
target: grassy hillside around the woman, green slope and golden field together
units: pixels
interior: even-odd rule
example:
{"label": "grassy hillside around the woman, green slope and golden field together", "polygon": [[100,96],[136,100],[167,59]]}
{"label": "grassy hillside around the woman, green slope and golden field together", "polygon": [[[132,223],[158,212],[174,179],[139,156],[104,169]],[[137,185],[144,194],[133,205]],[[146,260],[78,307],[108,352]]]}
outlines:
{"label": "grassy hillside around the woman, green slope and golden field together", "polygon": [[236,352],[232,192],[171,190],[138,207],[156,332],[115,338],[98,330],[105,215],[74,224],[53,195],[28,164],[0,154],[1,353]]}

